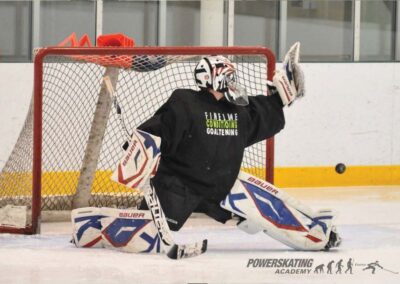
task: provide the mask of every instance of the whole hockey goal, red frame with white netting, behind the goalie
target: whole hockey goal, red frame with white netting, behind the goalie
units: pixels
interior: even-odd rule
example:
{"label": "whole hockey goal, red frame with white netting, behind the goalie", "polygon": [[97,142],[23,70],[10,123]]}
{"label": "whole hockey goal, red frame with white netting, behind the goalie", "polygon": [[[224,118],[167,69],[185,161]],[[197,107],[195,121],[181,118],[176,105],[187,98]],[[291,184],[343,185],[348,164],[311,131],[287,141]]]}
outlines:
{"label": "whole hockey goal, red frame with white netting, behind the goalie", "polygon": [[[136,206],[143,195],[110,180],[122,145],[174,89],[198,89],[194,67],[215,54],[236,64],[249,95],[267,95],[275,57],[263,47],[38,49],[29,113],[0,175],[0,208],[29,215],[0,232],[38,233],[42,210]],[[246,149],[243,170],[273,182],[273,167],[273,138]]]}

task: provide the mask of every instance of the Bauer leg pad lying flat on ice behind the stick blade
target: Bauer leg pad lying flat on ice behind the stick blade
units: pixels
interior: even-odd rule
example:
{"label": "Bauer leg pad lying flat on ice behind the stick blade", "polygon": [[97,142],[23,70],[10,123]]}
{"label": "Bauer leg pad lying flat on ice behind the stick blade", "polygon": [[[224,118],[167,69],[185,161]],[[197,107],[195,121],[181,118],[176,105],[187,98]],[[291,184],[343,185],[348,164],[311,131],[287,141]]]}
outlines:
{"label": "Bauer leg pad lying flat on ice behind the stick blade", "polygon": [[105,247],[124,252],[160,252],[151,213],[145,210],[81,208],[72,211],[77,247]]}

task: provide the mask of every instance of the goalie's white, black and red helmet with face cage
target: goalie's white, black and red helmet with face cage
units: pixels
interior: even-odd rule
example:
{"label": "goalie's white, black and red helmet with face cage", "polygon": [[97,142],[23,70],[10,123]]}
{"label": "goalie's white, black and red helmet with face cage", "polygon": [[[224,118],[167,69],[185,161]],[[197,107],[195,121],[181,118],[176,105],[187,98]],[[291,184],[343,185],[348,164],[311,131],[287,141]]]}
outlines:
{"label": "goalie's white, black and red helmet with face cage", "polygon": [[224,94],[228,102],[247,105],[246,90],[237,84],[236,68],[224,56],[202,58],[194,70],[194,78],[200,89],[213,89]]}

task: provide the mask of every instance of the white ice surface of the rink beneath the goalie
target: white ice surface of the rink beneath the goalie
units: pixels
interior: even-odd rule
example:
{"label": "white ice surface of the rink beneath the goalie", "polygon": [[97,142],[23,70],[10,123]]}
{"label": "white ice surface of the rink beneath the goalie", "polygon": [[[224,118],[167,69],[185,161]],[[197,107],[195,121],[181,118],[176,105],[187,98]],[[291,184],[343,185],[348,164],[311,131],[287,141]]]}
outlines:
{"label": "white ice surface of the rink beneath the goalie", "polygon": [[[296,189],[314,208],[334,208],[343,244],[330,252],[299,252],[263,233],[247,235],[233,223],[193,218],[180,242],[209,240],[201,256],[170,260],[164,255],[78,249],[69,223],[42,225],[36,236],[0,235],[0,283],[400,283],[400,187]],[[247,267],[250,258],[312,258],[308,274],[277,274],[277,268]],[[353,274],[345,273],[349,258]],[[343,259],[342,274],[327,274],[326,264]],[[363,270],[379,261],[384,268]],[[319,264],[324,272],[314,273]]]}

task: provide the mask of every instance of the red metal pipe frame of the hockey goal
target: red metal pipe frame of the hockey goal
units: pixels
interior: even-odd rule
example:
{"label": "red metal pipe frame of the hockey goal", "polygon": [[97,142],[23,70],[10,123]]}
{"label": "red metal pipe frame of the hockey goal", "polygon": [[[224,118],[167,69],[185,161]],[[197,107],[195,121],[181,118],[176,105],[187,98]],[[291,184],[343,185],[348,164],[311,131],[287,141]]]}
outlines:
{"label": "red metal pipe frame of the hockey goal", "polygon": [[[33,167],[32,167],[32,222],[26,228],[0,227],[0,233],[40,233],[42,189],[42,119],[43,119],[43,63],[46,56],[112,56],[112,55],[261,55],[267,58],[267,80],[272,81],[275,55],[259,46],[235,47],[47,47],[38,49],[34,59],[33,87]],[[274,182],[274,137],[266,142],[266,179]]]}

